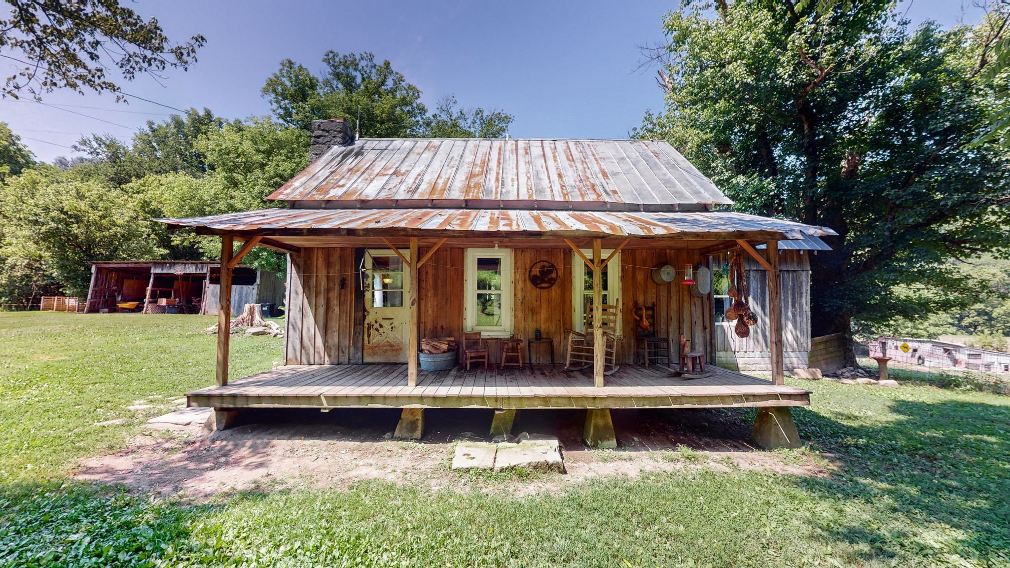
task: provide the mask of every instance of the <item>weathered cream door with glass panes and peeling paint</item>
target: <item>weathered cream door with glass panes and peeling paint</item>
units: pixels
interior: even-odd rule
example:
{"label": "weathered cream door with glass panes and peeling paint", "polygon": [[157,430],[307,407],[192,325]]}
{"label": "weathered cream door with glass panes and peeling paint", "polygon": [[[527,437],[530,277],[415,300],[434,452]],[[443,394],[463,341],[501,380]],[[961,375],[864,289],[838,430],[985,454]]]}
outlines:
{"label": "weathered cream door with glass panes and peeling paint", "polygon": [[[408,252],[403,255],[410,260]],[[405,363],[410,268],[389,250],[366,252],[365,268],[365,362]]]}

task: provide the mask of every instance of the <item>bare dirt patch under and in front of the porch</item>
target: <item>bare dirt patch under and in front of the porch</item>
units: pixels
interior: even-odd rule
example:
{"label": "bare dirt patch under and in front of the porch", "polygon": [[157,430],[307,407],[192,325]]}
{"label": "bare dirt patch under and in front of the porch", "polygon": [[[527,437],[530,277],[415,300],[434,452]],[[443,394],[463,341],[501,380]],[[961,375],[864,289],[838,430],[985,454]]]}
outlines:
{"label": "bare dirt patch under and in front of the porch", "polygon": [[150,424],[123,452],[84,460],[78,479],[124,483],[138,490],[183,493],[202,499],[221,492],[292,485],[343,486],[384,479],[432,489],[507,487],[516,492],[552,490],[601,475],[706,467],[823,475],[830,465],[804,452],[759,452],[746,443],[749,423],[738,410],[614,411],[617,450],[592,450],[581,440],[585,412],[523,411],[514,434],[558,436],[567,474],[513,478],[449,469],[452,445],[488,440],[490,410],[426,411],[425,438],[387,438],[396,410],[245,411],[224,432],[203,424]]}

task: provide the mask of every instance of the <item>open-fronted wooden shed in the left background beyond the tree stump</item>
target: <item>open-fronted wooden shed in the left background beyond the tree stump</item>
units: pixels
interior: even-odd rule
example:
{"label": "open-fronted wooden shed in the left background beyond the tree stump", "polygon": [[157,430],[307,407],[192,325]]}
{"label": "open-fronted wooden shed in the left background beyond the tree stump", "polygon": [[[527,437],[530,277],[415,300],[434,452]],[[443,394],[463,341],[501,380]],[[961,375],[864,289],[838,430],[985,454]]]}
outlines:
{"label": "open-fronted wooden shed in the left background beyond the tree stump", "polygon": [[[108,310],[143,313],[216,314],[220,304],[217,261],[103,261],[91,263],[86,313]],[[285,282],[269,270],[235,266],[231,302],[284,305]],[[174,309],[169,309],[170,305]]]}

